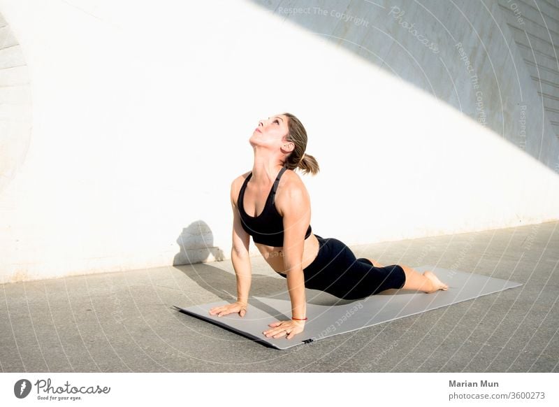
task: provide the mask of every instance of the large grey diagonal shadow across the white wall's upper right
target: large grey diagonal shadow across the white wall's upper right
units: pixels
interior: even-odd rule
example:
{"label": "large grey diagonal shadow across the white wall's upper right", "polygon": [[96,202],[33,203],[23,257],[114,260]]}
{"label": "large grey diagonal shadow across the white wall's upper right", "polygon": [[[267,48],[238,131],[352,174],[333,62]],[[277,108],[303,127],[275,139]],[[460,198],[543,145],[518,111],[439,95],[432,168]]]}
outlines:
{"label": "large grey diagonal shadow across the white wall's upper right", "polygon": [[[256,4],[256,6],[263,8],[271,15],[282,20],[282,22],[287,21],[297,24],[314,36],[317,36],[317,38],[334,43],[338,47],[360,57],[363,61],[374,64],[398,79],[405,80],[407,83],[427,92],[435,97],[437,101],[446,102],[450,106],[453,106],[453,108],[470,116],[472,120],[484,124],[498,136],[506,138],[507,141],[515,145],[516,148],[520,148],[526,154],[531,155],[542,164],[548,166],[552,171],[558,172],[559,162],[556,155],[554,155],[552,151],[548,154],[546,151],[537,148],[537,145],[540,143],[538,138],[535,137],[531,140],[518,138],[518,134],[521,134],[521,131],[523,131],[521,124],[521,118],[523,117],[521,103],[516,103],[516,106],[514,106],[514,103],[507,103],[505,108],[502,106],[499,108],[503,101],[502,99],[498,99],[498,97],[503,97],[503,95],[501,95],[503,89],[506,90],[506,92],[511,92],[507,93],[504,99],[510,96],[516,97],[516,92],[518,90],[515,90],[515,92],[507,90],[507,85],[501,89],[498,85],[500,76],[491,76],[491,74],[483,71],[481,66],[478,66],[477,71],[475,71],[476,64],[486,64],[486,66],[491,64],[491,66],[493,66],[491,58],[495,59],[496,55],[493,55],[491,52],[499,55],[498,59],[502,59],[512,56],[511,52],[509,52],[509,46],[516,49],[516,45],[514,45],[516,44],[516,40],[513,39],[511,43],[507,43],[507,39],[511,41],[511,38],[509,38],[509,36],[511,36],[509,27],[498,27],[498,31],[495,29],[495,24],[503,20],[495,20],[495,18],[493,18],[492,20],[487,19],[484,21],[483,19],[487,16],[483,14],[484,11],[481,8],[467,7],[467,13],[476,13],[476,15],[474,15],[474,20],[486,23],[484,30],[491,29],[489,34],[484,34],[488,36],[487,38],[481,38],[488,40],[487,45],[491,45],[490,48],[486,49],[486,45],[481,42],[481,39],[476,38],[473,34],[467,34],[466,38],[462,38],[459,29],[449,30],[449,27],[451,27],[449,24],[455,24],[456,21],[462,21],[464,24],[468,24],[470,23],[468,17],[472,17],[472,15],[468,16],[463,14],[461,10],[464,8],[463,6],[456,6],[456,4],[450,1],[431,1],[430,3],[436,5],[432,10],[429,10],[426,6],[418,6],[417,2],[405,0],[325,0],[319,2],[282,0],[251,1]],[[535,0],[533,0],[533,2],[535,3]],[[549,1],[546,2],[549,3]],[[317,4],[298,5],[293,3]],[[462,3],[467,4],[467,2]],[[491,3],[497,3],[497,1]],[[510,18],[510,15],[515,13],[515,10],[511,8],[511,5],[508,3],[509,1],[505,3],[504,0],[500,0],[499,7],[495,7],[496,10],[500,10],[499,17],[502,19]],[[522,4],[525,2],[521,1],[520,3]],[[427,7],[429,6],[427,5]],[[527,10],[528,7],[533,8],[532,6],[528,6],[528,4],[526,4],[525,7]],[[555,6],[551,7],[555,8]],[[514,17],[512,18],[514,19]],[[549,19],[550,22],[552,20],[553,22],[556,21],[552,17],[547,17],[547,19]],[[539,12],[537,20],[539,20],[539,22],[535,22],[535,24],[538,24],[540,27],[544,27],[542,23],[547,24],[542,12]],[[502,24],[504,26],[510,25],[518,31],[523,31],[523,38],[528,38],[528,34],[530,34],[521,26],[515,27],[514,24]],[[546,29],[546,31],[553,30]],[[466,33],[471,32],[471,29],[466,31]],[[491,35],[494,35],[495,38],[490,38]],[[481,45],[484,45],[483,50],[480,43],[477,43],[478,40]],[[457,48],[457,44],[461,45],[460,41],[465,41],[466,43],[472,41],[473,49],[470,51],[469,49],[463,50],[463,48]],[[454,45],[451,45],[451,43]],[[530,59],[535,58],[532,57],[532,52],[534,52],[532,46],[537,47],[535,52],[538,52],[539,55],[546,55],[545,52],[542,51],[546,50],[545,47],[548,45],[542,44],[543,43],[534,43],[530,45],[529,50],[526,51],[528,55],[530,55]],[[551,51],[549,52],[553,53],[554,46],[553,43],[550,44]],[[472,53],[468,55],[467,52]],[[477,56],[479,52],[484,52],[484,55],[481,57]],[[445,58],[446,60],[444,60]],[[543,65],[542,62],[535,64],[532,61],[528,61],[527,64],[542,66],[543,69],[548,71],[556,71],[556,58],[549,56],[548,59],[551,60],[551,62],[549,62],[549,67]],[[486,88],[484,92],[478,90],[478,83],[474,84],[472,82],[474,75],[472,74],[470,76],[470,71],[468,71],[467,75],[464,74],[466,70],[462,62],[466,61],[470,64],[470,60],[472,64],[468,65],[468,69],[474,69],[475,72],[472,72],[480,73],[479,80]],[[522,62],[522,59],[518,59],[518,62]],[[333,63],[335,64],[335,62]],[[523,66],[522,71],[528,69],[528,66],[529,65]],[[443,80],[444,77],[440,78],[441,72],[448,73],[449,77],[447,80]],[[512,70],[507,70],[506,72],[506,74],[500,73],[500,75],[513,75],[516,73]],[[528,73],[529,71],[526,72]],[[518,73],[516,73],[516,75],[518,75]],[[537,83],[541,86],[542,84],[540,82],[542,79],[540,78],[539,71],[535,73],[532,72],[532,76],[537,76]],[[430,80],[431,77],[435,78],[435,80]],[[478,79],[477,74],[475,78],[476,80]],[[505,76],[502,79],[504,78]],[[542,92],[542,90],[535,87],[535,83],[531,80],[525,81],[521,80],[521,78],[530,77],[528,75],[522,75],[521,77],[514,78],[515,80],[511,80],[509,83],[510,86],[513,87],[516,83],[517,86],[521,86],[523,92],[531,92],[530,94],[533,95],[536,95],[536,91],[538,93]],[[458,88],[455,87],[453,80],[458,80],[456,83]],[[554,85],[553,83],[550,84]],[[477,90],[475,97],[472,97],[472,94],[474,94],[472,89]],[[536,103],[535,106],[530,106],[531,108],[537,108],[539,105],[544,107],[544,101],[547,99],[556,99],[557,94],[554,93],[555,90],[551,87],[550,90],[546,92],[551,94],[549,94],[548,97],[544,97],[544,99],[529,98],[528,101],[523,102],[523,107],[526,108],[526,104],[530,103],[530,101]],[[483,99],[481,99],[483,94],[486,94],[485,105]],[[440,98],[440,95],[448,96]],[[551,126],[550,117],[552,116],[550,115],[554,114],[551,113],[553,110],[553,108],[546,108],[544,111],[538,110],[539,114],[542,115],[537,122],[538,129],[543,131],[543,128]],[[489,120],[486,115],[489,116]],[[504,122],[513,121],[511,117],[516,117],[514,125],[509,124],[507,127],[504,127]],[[546,137],[554,136],[552,133],[553,131],[549,134],[546,132]],[[556,135],[559,136],[559,132],[556,132]],[[535,143],[535,147],[527,148],[526,143]],[[556,145],[554,139],[553,142],[546,141],[546,143]]]}

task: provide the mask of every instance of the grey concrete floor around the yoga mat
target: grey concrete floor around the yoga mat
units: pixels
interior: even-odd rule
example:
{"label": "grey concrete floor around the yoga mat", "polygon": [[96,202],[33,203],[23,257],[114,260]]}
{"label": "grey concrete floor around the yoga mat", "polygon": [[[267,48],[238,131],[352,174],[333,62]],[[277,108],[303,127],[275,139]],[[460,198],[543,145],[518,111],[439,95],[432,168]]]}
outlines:
{"label": "grey concrete floor around the yoga mat", "polygon": [[[6,284],[0,286],[0,369],[559,371],[559,222],[352,249],[382,264],[436,264],[523,285],[275,350],[173,309],[231,299],[230,260]],[[273,294],[285,284],[253,257],[252,295]]]}

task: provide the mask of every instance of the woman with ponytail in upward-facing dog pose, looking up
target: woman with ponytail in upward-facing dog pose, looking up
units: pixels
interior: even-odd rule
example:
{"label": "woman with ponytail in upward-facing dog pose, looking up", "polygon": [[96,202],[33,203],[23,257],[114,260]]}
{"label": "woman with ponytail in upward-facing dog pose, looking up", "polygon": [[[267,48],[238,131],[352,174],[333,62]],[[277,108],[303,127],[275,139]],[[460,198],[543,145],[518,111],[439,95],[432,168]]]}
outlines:
{"label": "woman with ponytail in upward-facing dog pose, looking up", "polygon": [[312,234],[310,198],[298,174],[318,173],[317,160],[305,154],[307,133],[290,113],[261,120],[249,139],[254,149],[252,171],[231,184],[233,248],[231,261],[237,276],[238,300],[210,309],[210,315],[247,313],[254,244],[281,276],[286,278],[292,318],[277,321],[263,331],[266,337],[293,338],[305,328],[305,287],[343,299],[358,299],[390,288],[435,292],[447,290],[430,271],[421,274],[407,266],[382,266],[373,259],[356,259],[335,238]]}

